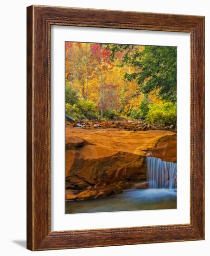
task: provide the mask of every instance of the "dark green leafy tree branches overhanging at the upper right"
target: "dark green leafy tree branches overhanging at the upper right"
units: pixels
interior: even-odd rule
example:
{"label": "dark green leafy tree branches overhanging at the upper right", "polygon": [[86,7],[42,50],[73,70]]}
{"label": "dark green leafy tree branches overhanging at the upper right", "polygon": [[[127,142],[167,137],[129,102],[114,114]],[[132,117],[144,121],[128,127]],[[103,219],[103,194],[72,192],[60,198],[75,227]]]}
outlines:
{"label": "dark green leafy tree branches overhanging at the upper right", "polygon": [[112,60],[116,52],[123,52],[121,65],[135,67],[131,74],[125,74],[127,81],[136,80],[140,91],[148,94],[158,91],[162,100],[177,100],[177,48],[168,46],[110,45]]}

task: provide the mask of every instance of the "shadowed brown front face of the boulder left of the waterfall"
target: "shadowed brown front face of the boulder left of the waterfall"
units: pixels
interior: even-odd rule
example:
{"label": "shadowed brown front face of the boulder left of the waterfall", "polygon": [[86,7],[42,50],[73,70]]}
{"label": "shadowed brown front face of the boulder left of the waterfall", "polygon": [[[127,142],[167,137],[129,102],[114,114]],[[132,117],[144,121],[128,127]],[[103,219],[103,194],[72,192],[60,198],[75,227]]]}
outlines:
{"label": "shadowed brown front face of the boulder left of the waterfall", "polygon": [[66,151],[66,188],[86,189],[146,179],[146,158],[87,145]]}

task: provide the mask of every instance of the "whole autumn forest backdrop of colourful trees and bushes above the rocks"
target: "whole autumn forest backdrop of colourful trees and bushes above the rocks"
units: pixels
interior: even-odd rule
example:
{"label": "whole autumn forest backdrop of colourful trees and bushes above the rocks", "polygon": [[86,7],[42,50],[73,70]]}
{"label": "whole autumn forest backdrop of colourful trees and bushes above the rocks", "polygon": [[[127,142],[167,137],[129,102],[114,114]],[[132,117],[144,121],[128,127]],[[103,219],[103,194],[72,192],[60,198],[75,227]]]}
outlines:
{"label": "whole autumn forest backdrop of colourful trees and bushes above the rocks", "polygon": [[65,42],[65,111],[176,125],[177,47]]}

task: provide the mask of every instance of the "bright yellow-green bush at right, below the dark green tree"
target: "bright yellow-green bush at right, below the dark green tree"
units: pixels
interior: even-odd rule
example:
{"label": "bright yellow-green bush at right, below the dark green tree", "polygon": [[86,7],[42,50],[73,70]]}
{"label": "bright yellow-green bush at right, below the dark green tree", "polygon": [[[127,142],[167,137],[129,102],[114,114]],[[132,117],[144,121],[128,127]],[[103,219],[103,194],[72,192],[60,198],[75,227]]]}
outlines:
{"label": "bright yellow-green bush at right, below the dark green tree", "polygon": [[146,123],[158,123],[164,125],[176,125],[177,105],[172,103],[150,104],[146,115]]}

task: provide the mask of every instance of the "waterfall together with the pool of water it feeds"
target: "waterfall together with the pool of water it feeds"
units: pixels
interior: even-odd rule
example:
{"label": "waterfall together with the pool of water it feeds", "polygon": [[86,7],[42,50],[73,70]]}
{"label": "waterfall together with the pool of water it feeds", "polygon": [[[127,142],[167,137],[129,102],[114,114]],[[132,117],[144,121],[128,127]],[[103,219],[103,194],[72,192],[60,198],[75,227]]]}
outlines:
{"label": "waterfall together with the pool of water it feeds", "polygon": [[65,213],[176,209],[177,164],[147,157],[146,166],[148,189],[125,189],[119,195],[67,200]]}

